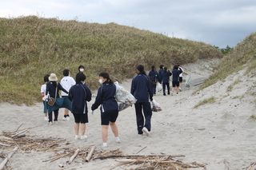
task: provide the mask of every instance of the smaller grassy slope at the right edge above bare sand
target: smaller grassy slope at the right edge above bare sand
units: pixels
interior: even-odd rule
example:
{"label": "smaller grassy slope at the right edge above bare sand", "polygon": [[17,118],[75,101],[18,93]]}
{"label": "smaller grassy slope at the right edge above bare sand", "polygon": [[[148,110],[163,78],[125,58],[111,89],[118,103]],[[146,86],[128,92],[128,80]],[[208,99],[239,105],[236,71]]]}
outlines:
{"label": "smaller grassy slope at the right edge above bare sand", "polygon": [[[256,33],[250,34],[219,62],[214,73],[198,89],[223,81],[231,73],[246,69],[244,76],[256,76]],[[248,74],[250,73],[250,74]]]}

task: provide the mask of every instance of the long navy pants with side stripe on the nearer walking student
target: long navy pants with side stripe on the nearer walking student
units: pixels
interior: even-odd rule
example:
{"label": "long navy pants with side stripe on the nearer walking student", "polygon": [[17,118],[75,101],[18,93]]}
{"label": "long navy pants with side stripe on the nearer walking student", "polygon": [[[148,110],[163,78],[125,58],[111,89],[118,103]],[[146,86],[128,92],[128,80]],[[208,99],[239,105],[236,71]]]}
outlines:
{"label": "long navy pants with side stripe on the nearer walking student", "polygon": [[[142,109],[145,117],[142,114]],[[135,104],[135,112],[136,112],[136,120],[137,120],[137,128],[138,134],[142,134],[142,128],[146,127],[149,131],[151,130],[151,117],[152,117],[152,110],[150,106],[150,102],[142,102]]]}

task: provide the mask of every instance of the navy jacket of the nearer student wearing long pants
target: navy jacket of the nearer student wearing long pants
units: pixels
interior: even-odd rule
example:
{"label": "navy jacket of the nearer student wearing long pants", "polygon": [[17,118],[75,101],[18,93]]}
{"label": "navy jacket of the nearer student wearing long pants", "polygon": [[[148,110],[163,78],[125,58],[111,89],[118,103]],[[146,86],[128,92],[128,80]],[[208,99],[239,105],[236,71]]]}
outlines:
{"label": "navy jacket of the nearer student wearing long pants", "polygon": [[153,97],[150,77],[138,73],[131,81],[130,93],[137,99],[136,103],[149,102]]}

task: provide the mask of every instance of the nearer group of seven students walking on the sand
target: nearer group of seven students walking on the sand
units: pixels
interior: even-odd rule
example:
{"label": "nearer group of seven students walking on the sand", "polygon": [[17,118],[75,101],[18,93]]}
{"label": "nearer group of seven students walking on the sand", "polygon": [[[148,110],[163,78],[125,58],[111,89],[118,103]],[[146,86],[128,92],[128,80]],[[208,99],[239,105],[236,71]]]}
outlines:
{"label": "nearer group of seven students walking on the sand", "polygon": [[[75,76],[75,81],[70,77],[70,71],[68,69],[63,70],[64,77],[61,83],[58,83],[56,74],[51,73],[44,77],[45,85],[42,85],[41,93],[44,104],[45,119],[48,120],[48,124],[53,124],[52,112],[47,114],[47,99],[49,97],[59,98],[58,91],[62,90],[62,97],[68,97],[71,102],[71,112],[74,115],[74,139],[86,140],[86,123],[88,123],[88,107],[87,102],[91,101],[90,89],[86,86],[86,75],[84,67],[80,65],[78,67],[79,73]],[[150,136],[151,129],[151,117],[152,111],[150,107],[150,101],[153,101],[153,91],[150,78],[146,75],[143,65],[136,67],[137,76],[134,77],[131,83],[130,93],[137,99],[135,105],[135,113],[137,120],[138,136],[142,136],[143,133],[146,136]],[[118,126],[115,124],[118,118],[118,102],[115,100],[116,86],[110,79],[108,73],[100,73],[99,83],[101,86],[98,89],[97,97],[94,104],[91,106],[90,113],[94,113],[95,109],[98,109],[101,105],[101,125],[102,125],[102,146],[107,147],[107,135],[108,128],[114,133],[115,141],[120,143],[121,140],[118,136]],[[72,80],[73,79],[73,80]],[[75,82],[75,83],[74,83]],[[150,101],[149,101],[150,99]],[[143,113],[142,113],[143,110]],[[68,115],[69,111],[65,111],[63,120]],[[144,119],[145,117],[145,119]],[[54,123],[58,124],[58,109],[54,110]],[[81,136],[79,137],[79,129]]]}

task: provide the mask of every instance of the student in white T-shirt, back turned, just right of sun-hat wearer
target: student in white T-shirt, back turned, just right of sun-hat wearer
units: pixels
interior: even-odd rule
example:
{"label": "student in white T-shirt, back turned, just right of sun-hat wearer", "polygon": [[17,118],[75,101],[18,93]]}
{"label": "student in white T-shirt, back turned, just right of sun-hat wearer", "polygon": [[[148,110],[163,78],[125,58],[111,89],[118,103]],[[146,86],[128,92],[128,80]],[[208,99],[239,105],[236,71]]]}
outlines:
{"label": "student in white T-shirt, back turned, just right of sun-hat wearer", "polygon": [[[70,70],[64,69],[63,70],[63,78],[61,80],[61,85],[66,91],[70,91],[71,86],[75,85],[75,81],[73,77],[70,77]],[[68,97],[68,94],[62,91],[62,97]],[[62,118],[63,121],[70,121],[70,111],[69,109],[64,109],[64,117]]]}

